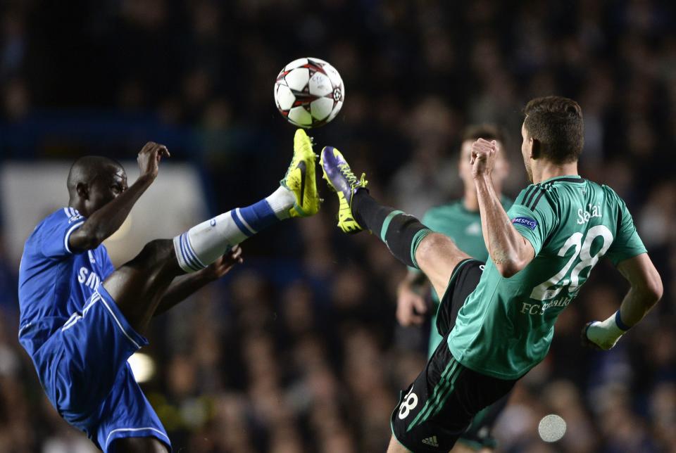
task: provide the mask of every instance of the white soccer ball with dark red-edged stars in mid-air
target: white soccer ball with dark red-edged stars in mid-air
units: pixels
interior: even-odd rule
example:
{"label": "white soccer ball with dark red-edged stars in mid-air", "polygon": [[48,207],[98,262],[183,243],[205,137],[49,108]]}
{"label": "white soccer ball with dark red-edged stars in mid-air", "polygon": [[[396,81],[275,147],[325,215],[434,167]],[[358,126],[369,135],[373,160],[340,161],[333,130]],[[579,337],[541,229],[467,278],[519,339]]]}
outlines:
{"label": "white soccer ball with dark red-edged stars in mid-air", "polygon": [[319,58],[299,58],[284,66],[275,82],[275,104],[290,123],[319,127],[336,117],[345,87],[338,71]]}

